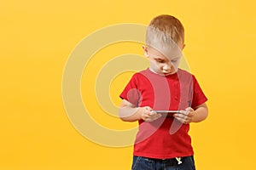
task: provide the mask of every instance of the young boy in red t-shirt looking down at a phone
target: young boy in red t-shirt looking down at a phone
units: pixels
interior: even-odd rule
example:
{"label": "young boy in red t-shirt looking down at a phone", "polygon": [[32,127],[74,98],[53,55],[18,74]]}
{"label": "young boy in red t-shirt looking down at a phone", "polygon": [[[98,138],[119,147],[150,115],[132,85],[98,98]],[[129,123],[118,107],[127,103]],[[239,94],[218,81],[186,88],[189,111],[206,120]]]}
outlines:
{"label": "young boy in red t-shirt looking down at a phone", "polygon": [[189,123],[207,118],[207,97],[195,77],[178,68],[183,25],[171,15],[155,17],[146,44],[149,68],[135,73],[120,94],[120,118],[139,123],[132,169],[195,169]]}

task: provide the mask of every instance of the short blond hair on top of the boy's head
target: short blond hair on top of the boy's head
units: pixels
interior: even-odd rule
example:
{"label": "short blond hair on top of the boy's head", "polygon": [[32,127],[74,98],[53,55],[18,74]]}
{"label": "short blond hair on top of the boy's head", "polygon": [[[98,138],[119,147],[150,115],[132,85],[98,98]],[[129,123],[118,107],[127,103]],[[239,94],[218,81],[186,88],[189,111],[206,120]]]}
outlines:
{"label": "short blond hair on top of the boy's head", "polygon": [[151,20],[146,34],[146,43],[151,47],[173,46],[184,42],[182,23],[172,15],[162,14]]}

